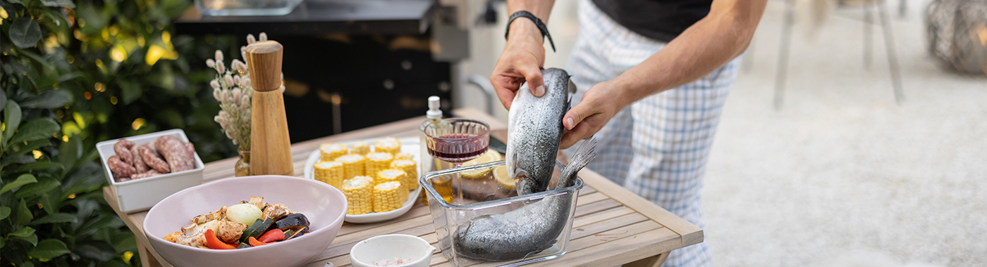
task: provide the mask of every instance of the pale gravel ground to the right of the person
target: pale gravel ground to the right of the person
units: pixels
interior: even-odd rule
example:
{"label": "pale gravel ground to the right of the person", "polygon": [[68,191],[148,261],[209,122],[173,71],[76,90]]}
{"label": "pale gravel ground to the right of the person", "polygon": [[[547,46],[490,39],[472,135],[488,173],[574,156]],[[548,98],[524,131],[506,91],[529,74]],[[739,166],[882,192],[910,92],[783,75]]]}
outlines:
{"label": "pale gravel ground to the right of the person", "polygon": [[[888,10],[897,11],[890,1]],[[797,26],[774,109],[785,6],[772,1],[725,105],[704,191],[718,266],[987,265],[987,78],[926,53],[928,1],[891,16],[906,100],[863,13]]]}

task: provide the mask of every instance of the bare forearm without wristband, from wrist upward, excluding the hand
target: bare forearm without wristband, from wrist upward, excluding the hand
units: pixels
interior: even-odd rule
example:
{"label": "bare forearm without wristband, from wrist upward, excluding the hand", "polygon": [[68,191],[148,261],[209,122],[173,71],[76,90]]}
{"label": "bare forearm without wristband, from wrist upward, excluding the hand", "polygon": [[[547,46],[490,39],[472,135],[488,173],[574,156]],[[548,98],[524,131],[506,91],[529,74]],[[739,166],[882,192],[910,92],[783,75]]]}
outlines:
{"label": "bare forearm without wristband, from wrist upward, excluding the hand", "polygon": [[710,14],[614,82],[624,104],[695,81],[747,49],[767,0],[714,2]]}

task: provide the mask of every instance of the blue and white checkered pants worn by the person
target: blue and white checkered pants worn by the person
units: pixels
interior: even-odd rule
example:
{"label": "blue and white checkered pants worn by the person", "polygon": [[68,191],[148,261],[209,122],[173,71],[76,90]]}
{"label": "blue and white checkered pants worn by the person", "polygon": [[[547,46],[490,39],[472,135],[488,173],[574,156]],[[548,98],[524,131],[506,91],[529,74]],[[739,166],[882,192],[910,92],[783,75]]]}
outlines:
{"label": "blue and white checkered pants worn by the person", "polygon": [[[665,43],[633,33],[589,0],[579,1],[569,74],[579,92],[640,64]],[[625,107],[597,134],[589,168],[703,228],[700,191],[723,102],[739,57],[695,82]],[[664,266],[710,266],[706,243],[676,249]]]}

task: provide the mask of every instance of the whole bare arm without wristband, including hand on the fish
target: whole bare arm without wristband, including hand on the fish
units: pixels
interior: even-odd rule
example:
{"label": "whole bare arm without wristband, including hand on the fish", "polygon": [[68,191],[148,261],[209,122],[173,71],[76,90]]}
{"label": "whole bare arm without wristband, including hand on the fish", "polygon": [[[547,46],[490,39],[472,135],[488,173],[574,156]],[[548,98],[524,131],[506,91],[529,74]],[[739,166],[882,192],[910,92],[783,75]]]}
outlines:
{"label": "whole bare arm without wristband, including hand on the fish", "polygon": [[564,116],[570,131],[561,148],[569,148],[600,130],[625,106],[720,68],[747,49],[767,0],[715,0],[710,14],[645,62],[613,81],[596,84]]}

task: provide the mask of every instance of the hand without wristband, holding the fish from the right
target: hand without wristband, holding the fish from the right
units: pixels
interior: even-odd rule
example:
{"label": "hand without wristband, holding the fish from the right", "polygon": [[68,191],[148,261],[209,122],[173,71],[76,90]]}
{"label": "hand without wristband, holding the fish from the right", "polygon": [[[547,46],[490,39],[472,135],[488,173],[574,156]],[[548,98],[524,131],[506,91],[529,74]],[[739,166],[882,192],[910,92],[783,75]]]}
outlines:
{"label": "hand without wristband, holding the fish from the right", "polygon": [[633,102],[627,101],[622,92],[614,81],[596,84],[586,91],[582,101],[563,116],[562,123],[569,131],[562,134],[559,149],[568,149],[579,140],[589,138]]}

